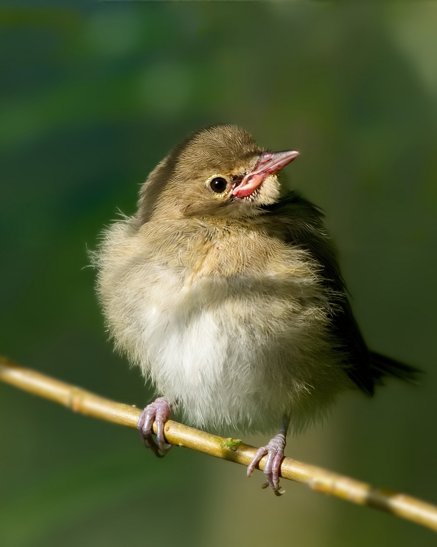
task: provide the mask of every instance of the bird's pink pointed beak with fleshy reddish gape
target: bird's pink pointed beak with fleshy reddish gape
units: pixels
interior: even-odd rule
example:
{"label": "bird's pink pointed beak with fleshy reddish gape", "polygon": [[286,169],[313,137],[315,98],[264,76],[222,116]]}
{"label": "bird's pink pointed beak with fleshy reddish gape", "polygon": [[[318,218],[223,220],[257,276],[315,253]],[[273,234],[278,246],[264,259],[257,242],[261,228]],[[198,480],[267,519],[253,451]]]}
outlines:
{"label": "bird's pink pointed beak with fleshy reddish gape", "polygon": [[263,152],[259,156],[257,164],[253,171],[247,173],[243,180],[233,189],[232,194],[235,197],[250,196],[267,177],[277,173],[282,167],[288,165],[294,158],[297,158],[299,152],[296,150],[282,150],[282,152]]}

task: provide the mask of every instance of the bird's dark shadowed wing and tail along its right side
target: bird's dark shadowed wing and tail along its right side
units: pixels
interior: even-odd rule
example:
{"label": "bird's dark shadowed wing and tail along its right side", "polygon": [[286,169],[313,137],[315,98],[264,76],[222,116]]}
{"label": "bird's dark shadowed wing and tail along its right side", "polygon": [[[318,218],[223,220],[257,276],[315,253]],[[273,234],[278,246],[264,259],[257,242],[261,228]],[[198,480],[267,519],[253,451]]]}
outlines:
{"label": "bird's dark shadowed wing and tail along its right side", "polygon": [[[370,396],[374,394],[375,383],[382,383],[383,376],[416,381],[417,374],[420,373],[418,369],[369,351],[353,317],[336,250],[324,229],[324,215],[320,208],[291,192],[264,209],[275,214],[277,228],[270,228],[272,235],[282,240],[285,237],[287,243],[309,251],[322,268],[321,282],[336,295],[336,310],[332,312],[331,328],[338,340],[339,351],[346,355],[345,372],[350,379]],[[277,222],[279,219],[281,222]]]}

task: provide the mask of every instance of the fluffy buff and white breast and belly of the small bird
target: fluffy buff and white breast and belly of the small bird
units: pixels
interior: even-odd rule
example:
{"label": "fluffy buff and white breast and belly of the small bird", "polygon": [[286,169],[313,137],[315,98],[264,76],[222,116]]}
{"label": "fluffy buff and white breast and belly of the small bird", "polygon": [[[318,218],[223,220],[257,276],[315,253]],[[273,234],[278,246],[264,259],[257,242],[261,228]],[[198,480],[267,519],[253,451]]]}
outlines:
{"label": "fluffy buff and white breast and belly of the small bird", "polygon": [[257,269],[250,248],[237,241],[234,262],[209,245],[212,254],[194,268],[186,265],[187,249],[178,259],[184,247],[174,242],[169,265],[160,247],[145,253],[132,228],[113,226],[102,249],[105,316],[117,346],[185,422],[223,434],[270,433],[290,417],[298,431],[351,387],[329,334],[333,295],[308,255],[265,244]]}

